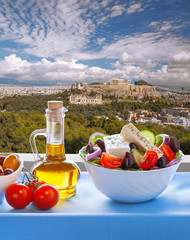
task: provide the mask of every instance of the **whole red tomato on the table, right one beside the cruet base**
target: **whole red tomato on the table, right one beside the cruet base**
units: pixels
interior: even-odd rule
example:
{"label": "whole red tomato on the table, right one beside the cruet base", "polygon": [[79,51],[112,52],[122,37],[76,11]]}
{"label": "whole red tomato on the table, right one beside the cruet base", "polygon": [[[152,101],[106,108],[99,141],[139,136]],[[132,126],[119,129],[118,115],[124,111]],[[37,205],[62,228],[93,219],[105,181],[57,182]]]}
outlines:
{"label": "whole red tomato on the table, right one beside the cruet base", "polygon": [[43,184],[33,193],[32,202],[42,210],[54,207],[59,201],[59,192],[56,187]]}

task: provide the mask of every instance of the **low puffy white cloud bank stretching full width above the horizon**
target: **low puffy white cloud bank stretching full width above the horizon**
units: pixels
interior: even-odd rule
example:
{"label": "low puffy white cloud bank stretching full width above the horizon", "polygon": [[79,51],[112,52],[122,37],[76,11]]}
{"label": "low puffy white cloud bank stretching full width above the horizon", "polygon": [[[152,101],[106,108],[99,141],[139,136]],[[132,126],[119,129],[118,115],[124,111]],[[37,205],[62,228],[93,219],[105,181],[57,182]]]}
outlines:
{"label": "low puffy white cloud bank stretching full width above the horizon", "polygon": [[[152,62],[150,62],[152,64]],[[137,66],[135,64],[116,61],[114,69],[103,69],[99,67],[88,67],[77,63],[76,60],[57,60],[51,62],[45,58],[41,61],[30,63],[22,60],[16,55],[10,55],[0,61],[0,78],[13,78],[22,81],[41,82],[63,82],[72,83],[76,81],[104,81],[108,82],[112,77],[144,79],[149,83],[168,84],[171,86],[190,85],[190,69],[183,66],[179,68],[173,64],[162,65],[156,70]]]}

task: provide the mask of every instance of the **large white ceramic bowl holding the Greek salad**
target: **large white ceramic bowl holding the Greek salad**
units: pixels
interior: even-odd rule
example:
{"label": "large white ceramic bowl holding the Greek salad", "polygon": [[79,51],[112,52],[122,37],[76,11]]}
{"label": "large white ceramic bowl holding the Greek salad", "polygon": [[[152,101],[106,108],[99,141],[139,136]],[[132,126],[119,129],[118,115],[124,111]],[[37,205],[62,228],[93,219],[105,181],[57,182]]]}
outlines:
{"label": "large white ceramic bowl holding the Greek salad", "polygon": [[[81,156],[81,151],[79,155]],[[129,171],[104,168],[83,160],[97,189],[110,199],[136,203],[160,195],[170,183],[184,155],[180,152],[177,164],[149,171]]]}

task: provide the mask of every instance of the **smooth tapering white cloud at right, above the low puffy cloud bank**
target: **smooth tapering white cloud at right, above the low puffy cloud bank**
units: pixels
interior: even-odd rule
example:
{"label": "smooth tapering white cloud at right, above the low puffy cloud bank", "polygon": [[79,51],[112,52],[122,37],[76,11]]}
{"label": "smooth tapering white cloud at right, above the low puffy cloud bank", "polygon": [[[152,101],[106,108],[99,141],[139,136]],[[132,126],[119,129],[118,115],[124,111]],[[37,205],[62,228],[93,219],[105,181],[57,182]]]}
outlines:
{"label": "smooth tapering white cloud at right, above the low puffy cloud bank", "polygon": [[188,43],[173,35],[164,35],[161,32],[143,33],[121,37],[104,45],[101,52],[90,54],[89,58],[120,59],[121,62],[133,64],[146,63],[147,59],[152,62],[169,61],[188,47]]}

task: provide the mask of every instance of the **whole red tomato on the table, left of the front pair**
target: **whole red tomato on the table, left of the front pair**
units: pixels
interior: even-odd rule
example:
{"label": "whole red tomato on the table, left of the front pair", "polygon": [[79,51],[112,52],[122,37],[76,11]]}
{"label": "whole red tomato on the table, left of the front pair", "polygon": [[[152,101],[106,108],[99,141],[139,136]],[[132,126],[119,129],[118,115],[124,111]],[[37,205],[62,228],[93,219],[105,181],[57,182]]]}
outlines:
{"label": "whole red tomato on the table, left of the front pair", "polygon": [[32,201],[32,191],[22,183],[14,183],[7,188],[5,198],[14,208],[25,208]]}

